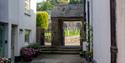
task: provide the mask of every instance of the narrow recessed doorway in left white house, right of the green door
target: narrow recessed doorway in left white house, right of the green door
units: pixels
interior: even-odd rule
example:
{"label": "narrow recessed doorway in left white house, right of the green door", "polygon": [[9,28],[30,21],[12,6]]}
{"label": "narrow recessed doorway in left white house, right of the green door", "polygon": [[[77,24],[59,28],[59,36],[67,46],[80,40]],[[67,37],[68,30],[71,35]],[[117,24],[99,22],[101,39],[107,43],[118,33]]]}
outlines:
{"label": "narrow recessed doorway in left white house, right of the green door", "polygon": [[17,39],[17,26],[16,25],[12,25],[12,29],[11,29],[11,59],[12,62],[15,61],[15,43]]}

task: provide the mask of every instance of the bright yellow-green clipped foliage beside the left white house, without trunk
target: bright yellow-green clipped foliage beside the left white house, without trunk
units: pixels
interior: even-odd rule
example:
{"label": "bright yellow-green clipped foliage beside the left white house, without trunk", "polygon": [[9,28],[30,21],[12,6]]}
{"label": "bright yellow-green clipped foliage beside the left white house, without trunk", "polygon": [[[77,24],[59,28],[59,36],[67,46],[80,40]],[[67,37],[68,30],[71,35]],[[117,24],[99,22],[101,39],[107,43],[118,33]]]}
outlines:
{"label": "bright yellow-green clipped foliage beside the left white house, without trunk", "polygon": [[48,13],[47,12],[37,12],[36,18],[37,27],[41,29],[48,29]]}

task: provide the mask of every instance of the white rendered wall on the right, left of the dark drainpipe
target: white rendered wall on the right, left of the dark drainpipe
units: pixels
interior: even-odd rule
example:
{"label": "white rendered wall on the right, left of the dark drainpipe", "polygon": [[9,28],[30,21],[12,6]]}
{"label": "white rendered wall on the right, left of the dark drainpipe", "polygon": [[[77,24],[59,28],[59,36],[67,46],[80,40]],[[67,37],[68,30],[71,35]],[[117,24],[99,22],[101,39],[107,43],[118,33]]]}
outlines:
{"label": "white rendered wall on the right, left of the dark drainpipe", "polygon": [[92,2],[94,60],[97,63],[110,63],[110,0]]}

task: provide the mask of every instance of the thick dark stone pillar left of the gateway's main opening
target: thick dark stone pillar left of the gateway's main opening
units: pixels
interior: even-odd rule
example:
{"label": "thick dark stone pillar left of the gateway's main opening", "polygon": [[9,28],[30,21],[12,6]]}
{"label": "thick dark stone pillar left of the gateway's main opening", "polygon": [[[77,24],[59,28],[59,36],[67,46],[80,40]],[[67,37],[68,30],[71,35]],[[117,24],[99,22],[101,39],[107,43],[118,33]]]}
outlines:
{"label": "thick dark stone pillar left of the gateway's main opening", "polygon": [[64,36],[63,36],[63,21],[58,18],[52,18],[52,46],[63,46]]}

